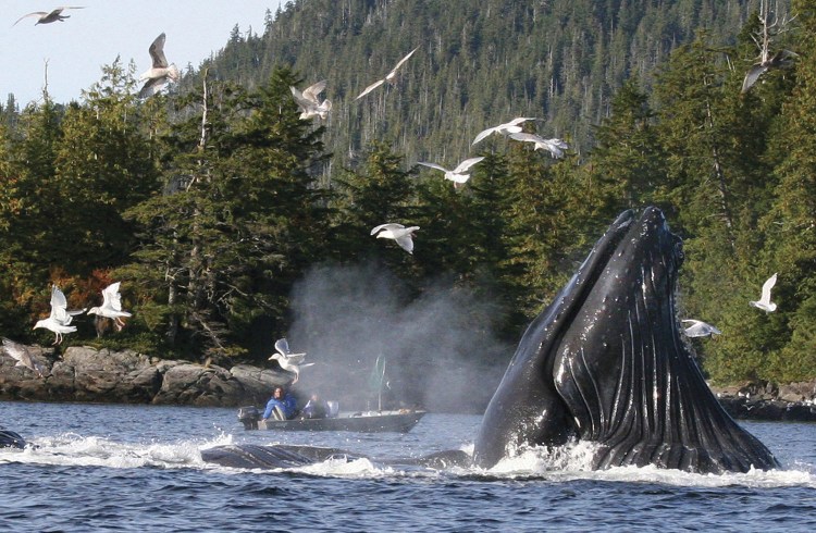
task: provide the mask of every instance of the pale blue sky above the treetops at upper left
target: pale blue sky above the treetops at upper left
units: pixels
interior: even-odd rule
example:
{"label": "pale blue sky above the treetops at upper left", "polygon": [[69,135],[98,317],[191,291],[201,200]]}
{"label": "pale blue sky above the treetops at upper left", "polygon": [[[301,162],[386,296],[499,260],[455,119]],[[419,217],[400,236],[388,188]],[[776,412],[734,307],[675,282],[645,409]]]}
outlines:
{"label": "pale blue sky above the treetops at upper left", "polygon": [[[58,0],[59,1],[59,0]],[[23,109],[41,101],[48,62],[48,94],[58,103],[79,100],[83,89],[102,77],[102,66],[121,57],[133,60],[138,76],[150,67],[150,44],[166,34],[164,54],[182,71],[198,67],[218,53],[237,25],[242,35],[263,33],[267,10],[273,14],[285,0],[3,0],[0,12],[0,104],[13,94]],[[63,5],[64,22],[35,25],[34,11]]]}

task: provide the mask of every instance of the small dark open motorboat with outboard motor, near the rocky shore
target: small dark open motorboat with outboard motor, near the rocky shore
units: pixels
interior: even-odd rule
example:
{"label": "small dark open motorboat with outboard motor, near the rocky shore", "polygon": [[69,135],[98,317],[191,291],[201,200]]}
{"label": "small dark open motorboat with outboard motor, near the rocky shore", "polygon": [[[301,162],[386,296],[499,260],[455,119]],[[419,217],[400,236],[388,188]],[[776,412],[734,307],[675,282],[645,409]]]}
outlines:
{"label": "small dark open motorboat with outboard motor, near the rocky shore", "polygon": [[408,433],[426,411],[400,409],[396,411],[341,412],[336,402],[329,402],[326,418],[294,418],[292,420],[261,420],[255,406],[242,407],[238,420],[245,430],[277,431],[353,431],[359,433]]}

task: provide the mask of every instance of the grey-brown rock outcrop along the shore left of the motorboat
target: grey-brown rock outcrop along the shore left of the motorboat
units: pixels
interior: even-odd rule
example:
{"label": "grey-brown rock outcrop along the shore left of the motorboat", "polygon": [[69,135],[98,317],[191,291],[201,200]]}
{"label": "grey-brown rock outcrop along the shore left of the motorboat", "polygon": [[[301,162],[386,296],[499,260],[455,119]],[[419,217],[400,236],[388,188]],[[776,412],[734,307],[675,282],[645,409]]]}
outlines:
{"label": "grey-brown rock outcrop along the shore left of the motorboat", "polygon": [[57,358],[52,349],[32,346],[29,352],[44,377],[2,356],[0,399],[230,407],[263,404],[275,385],[290,380],[247,364],[227,370],[131,350],[74,346]]}

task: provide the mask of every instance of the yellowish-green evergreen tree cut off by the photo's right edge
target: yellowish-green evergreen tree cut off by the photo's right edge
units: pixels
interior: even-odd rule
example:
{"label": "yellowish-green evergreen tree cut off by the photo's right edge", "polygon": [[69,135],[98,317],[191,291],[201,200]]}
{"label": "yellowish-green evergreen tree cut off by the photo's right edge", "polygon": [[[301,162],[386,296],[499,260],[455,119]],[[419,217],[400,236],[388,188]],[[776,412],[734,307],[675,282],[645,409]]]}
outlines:
{"label": "yellowish-green evergreen tree cut off by the photo's right edge", "polygon": [[816,2],[794,1],[793,9],[799,14],[796,86],[771,139],[771,150],[783,159],[776,168],[775,201],[762,220],[768,238],[754,276],[779,272],[772,293],[777,313],[757,320],[770,322],[769,335],[788,340],[764,367],[764,377],[780,381],[813,377],[816,368]]}

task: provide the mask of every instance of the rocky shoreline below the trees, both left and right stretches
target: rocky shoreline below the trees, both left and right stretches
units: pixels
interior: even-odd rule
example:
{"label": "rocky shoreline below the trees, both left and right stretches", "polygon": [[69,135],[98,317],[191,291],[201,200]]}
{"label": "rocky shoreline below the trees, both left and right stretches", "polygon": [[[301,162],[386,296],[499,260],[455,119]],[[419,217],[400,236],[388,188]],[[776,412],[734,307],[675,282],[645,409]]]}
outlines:
{"label": "rocky shoreline below the trees, both left and right stretches", "polygon": [[[29,346],[44,377],[12,358],[0,357],[0,400],[87,401],[198,407],[262,405],[290,374],[250,364],[230,369],[151,358],[131,350],[72,346],[61,357],[52,348]],[[713,387],[735,419],[816,422],[816,381]]]}

